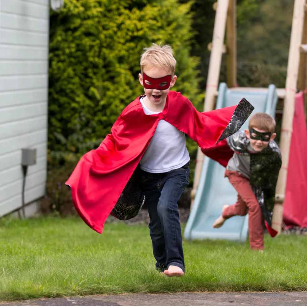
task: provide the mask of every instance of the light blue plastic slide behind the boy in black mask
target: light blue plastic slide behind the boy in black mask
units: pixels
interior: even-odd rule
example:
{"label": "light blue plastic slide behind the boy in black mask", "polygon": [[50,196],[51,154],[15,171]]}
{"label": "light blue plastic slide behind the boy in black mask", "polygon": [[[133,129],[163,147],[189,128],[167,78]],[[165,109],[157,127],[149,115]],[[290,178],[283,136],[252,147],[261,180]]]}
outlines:
{"label": "light blue plastic slide behind the boy in black mask", "polygon": [[[278,100],[275,85],[270,84],[268,89],[227,88],[226,83],[221,83],[216,102],[216,109],[237,105],[245,98],[254,107],[252,115],[265,112],[275,117]],[[248,119],[241,130],[248,128]],[[213,228],[212,224],[221,215],[224,204],[235,204],[237,192],[224,178],[225,168],[207,156],[200,175],[194,204],[184,231],[184,238],[194,239],[226,239],[244,242],[248,234],[248,215],[233,216],[226,220],[220,228]]]}

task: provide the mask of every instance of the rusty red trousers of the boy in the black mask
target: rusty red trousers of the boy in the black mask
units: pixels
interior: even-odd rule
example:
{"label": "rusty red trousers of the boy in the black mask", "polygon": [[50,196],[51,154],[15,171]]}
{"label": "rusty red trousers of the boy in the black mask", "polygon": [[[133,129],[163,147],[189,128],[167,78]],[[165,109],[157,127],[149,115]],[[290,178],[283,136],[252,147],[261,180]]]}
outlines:
{"label": "rusty red trousers of the boy in the black mask", "polygon": [[264,249],[262,212],[249,180],[242,174],[228,169],[226,169],[225,177],[228,177],[229,182],[238,192],[238,200],[223,211],[223,218],[229,219],[231,216],[244,216],[248,213],[248,232],[251,249]]}

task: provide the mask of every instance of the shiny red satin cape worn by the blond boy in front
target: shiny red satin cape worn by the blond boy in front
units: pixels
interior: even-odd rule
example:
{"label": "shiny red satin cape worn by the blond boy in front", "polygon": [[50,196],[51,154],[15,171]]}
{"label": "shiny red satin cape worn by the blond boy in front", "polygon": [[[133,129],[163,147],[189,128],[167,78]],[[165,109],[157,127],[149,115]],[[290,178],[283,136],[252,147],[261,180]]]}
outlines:
{"label": "shiny red satin cape worn by the blond boy in front", "polygon": [[[248,111],[243,122],[254,109],[246,100],[244,106]],[[200,113],[180,92],[169,91],[163,111],[146,115],[140,97],[135,99],[119,115],[111,134],[96,150],[80,159],[66,181],[81,218],[93,230],[102,232],[105,220],[145,153],[160,119],[187,134],[201,148],[210,148],[233,122],[236,107]]]}

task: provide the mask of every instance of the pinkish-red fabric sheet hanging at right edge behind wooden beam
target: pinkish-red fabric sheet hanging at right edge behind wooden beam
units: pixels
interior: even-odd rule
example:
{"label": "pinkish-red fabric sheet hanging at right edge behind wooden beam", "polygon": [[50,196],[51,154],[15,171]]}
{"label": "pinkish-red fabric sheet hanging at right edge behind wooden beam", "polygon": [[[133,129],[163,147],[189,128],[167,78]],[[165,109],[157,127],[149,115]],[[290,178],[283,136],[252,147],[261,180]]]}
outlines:
{"label": "pinkish-red fabric sheet hanging at right edge behind wooden beam", "polygon": [[296,95],[283,220],[307,227],[307,130],[303,93]]}

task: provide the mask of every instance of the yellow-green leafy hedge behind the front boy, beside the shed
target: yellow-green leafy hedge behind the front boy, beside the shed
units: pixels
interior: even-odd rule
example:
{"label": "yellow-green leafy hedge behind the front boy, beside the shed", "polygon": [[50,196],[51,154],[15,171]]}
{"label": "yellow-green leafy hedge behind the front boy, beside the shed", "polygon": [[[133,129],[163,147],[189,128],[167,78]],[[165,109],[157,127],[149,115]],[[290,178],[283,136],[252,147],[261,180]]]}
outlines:
{"label": "yellow-green leafy hedge behind the front boy, beside the shed", "polygon": [[[150,3],[151,2],[151,3]],[[189,56],[191,3],[65,0],[50,16],[49,150],[84,154],[110,133],[143,88],[139,59],[152,42],[170,44],[181,91],[198,109],[198,59]]]}

